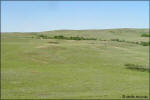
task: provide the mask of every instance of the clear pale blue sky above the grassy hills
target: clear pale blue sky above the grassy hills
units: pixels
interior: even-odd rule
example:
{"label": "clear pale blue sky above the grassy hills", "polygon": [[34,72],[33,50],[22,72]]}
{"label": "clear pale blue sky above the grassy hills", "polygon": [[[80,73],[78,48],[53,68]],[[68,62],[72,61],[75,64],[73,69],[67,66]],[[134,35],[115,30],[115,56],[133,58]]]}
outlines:
{"label": "clear pale blue sky above the grassy hills", "polygon": [[149,28],[148,1],[2,1],[2,32]]}

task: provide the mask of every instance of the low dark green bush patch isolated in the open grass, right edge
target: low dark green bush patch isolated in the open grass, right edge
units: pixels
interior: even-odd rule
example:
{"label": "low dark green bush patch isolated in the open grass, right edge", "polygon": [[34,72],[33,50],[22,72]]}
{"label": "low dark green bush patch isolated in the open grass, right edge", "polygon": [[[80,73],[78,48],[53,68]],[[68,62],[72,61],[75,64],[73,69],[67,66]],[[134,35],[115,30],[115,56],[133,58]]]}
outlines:
{"label": "low dark green bush patch isolated in the open grass, right edge", "polygon": [[126,66],[127,69],[149,72],[149,67],[148,66],[135,65],[135,64],[125,64],[125,66]]}

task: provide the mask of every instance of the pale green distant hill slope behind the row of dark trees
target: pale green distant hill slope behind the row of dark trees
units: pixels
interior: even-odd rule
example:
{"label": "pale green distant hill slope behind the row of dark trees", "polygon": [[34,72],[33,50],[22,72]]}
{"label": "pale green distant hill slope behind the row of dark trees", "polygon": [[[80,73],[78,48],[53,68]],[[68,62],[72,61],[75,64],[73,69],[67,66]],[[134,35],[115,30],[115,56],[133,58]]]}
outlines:
{"label": "pale green distant hill slope behind the row of dark trees", "polygon": [[[5,32],[5,35],[6,33],[7,32]],[[45,31],[45,32],[20,32],[20,33],[31,33],[32,35],[44,34],[52,37],[58,35],[63,35],[65,37],[79,36],[79,37],[97,38],[103,40],[110,40],[110,39],[120,39],[120,40],[127,40],[127,41],[148,41],[149,40],[149,38],[147,37],[141,37],[142,34],[149,34],[149,29],[132,29],[132,28],[102,29],[102,30],[55,30],[55,31]],[[23,34],[20,33],[13,32],[13,34],[17,34],[18,36],[20,35],[23,36]],[[31,34],[24,34],[24,35],[31,36]]]}

